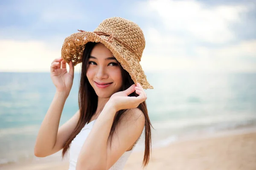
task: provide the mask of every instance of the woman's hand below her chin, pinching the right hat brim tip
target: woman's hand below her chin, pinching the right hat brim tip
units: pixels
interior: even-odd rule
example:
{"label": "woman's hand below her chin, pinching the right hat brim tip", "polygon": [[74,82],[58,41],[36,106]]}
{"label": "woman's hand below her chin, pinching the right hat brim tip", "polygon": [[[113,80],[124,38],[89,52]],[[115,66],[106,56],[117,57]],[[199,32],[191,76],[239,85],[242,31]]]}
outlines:
{"label": "woman's hand below her chin, pinching the right hat brim tip", "polygon": [[[139,96],[128,96],[132,92],[136,91]],[[122,109],[131,109],[131,108],[137,108],[140,103],[144,102],[147,99],[147,94],[143,90],[140,83],[137,83],[137,86],[135,84],[131,85],[128,89],[125,91],[119,91],[113,94],[108,103],[115,108],[116,111],[122,110]]]}

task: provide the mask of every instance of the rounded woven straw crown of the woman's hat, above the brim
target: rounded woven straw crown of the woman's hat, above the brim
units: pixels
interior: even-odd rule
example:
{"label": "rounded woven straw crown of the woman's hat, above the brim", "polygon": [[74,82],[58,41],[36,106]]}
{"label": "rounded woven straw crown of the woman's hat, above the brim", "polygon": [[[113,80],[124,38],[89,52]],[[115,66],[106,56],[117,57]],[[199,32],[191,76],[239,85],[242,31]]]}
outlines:
{"label": "rounded woven straw crown of the woman's hat, above the brim", "polygon": [[111,17],[103,20],[94,31],[112,34],[113,37],[128,45],[136,53],[138,59],[141,59],[145,48],[145,37],[136,23],[121,17]]}

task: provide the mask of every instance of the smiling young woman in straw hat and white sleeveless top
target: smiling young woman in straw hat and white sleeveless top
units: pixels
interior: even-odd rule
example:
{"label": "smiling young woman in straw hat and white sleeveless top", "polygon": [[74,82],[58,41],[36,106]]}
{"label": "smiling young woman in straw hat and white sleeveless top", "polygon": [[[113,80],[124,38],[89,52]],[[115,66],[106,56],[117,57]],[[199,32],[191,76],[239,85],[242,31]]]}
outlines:
{"label": "smiling young woman in straw hat and white sleeveless top", "polygon": [[[153,87],[139,63],[144,48],[140,27],[120,17],[104,20],[93,32],[67,37],[61,58],[50,67],[56,93],[38,132],[35,156],[63,149],[62,157],[70,151],[69,170],[122,170],[145,128],[145,167],[151,123],[144,89]],[[79,110],[58,128],[79,62]]]}

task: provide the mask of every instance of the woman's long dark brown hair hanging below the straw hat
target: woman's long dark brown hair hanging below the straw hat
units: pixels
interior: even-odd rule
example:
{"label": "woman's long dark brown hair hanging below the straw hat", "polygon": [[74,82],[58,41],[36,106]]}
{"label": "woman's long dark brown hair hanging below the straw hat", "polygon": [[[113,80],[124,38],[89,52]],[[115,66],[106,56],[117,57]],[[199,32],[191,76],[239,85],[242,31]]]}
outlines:
{"label": "woman's long dark brown hair hanging below the straw hat", "polygon": [[[80,85],[79,85],[79,110],[80,110],[80,118],[76,125],[76,128],[73,130],[69,138],[64,144],[63,150],[62,150],[62,158],[64,158],[65,153],[70,147],[70,143],[73,141],[73,139],[76,137],[76,135],[81,131],[81,129],[89,123],[90,119],[92,118],[93,114],[96,112],[97,105],[98,105],[98,96],[96,95],[93,87],[90,85],[90,82],[87,79],[86,73],[87,73],[87,63],[89,60],[89,55],[93,49],[93,47],[96,45],[96,42],[88,42],[85,45],[84,52],[83,52],[83,58],[82,58],[82,68],[81,68],[81,79],[80,79]],[[120,65],[120,63],[118,62]],[[124,91],[127,88],[129,88],[131,85],[134,84],[133,80],[131,79],[130,74],[125,71],[121,67],[122,72],[122,88],[120,91]],[[138,96],[138,94],[135,93],[135,91],[130,94],[129,96]],[[150,157],[150,151],[151,151],[151,122],[148,117],[148,109],[146,102],[140,103],[140,105],[137,107],[139,108],[144,116],[145,116],[145,151],[144,151],[144,159],[143,159],[143,167],[145,167],[149,162]],[[112,137],[114,130],[116,128],[117,123],[119,122],[120,117],[122,114],[126,111],[120,110],[116,112],[116,115],[113,119],[113,124],[111,127],[109,138]]]}

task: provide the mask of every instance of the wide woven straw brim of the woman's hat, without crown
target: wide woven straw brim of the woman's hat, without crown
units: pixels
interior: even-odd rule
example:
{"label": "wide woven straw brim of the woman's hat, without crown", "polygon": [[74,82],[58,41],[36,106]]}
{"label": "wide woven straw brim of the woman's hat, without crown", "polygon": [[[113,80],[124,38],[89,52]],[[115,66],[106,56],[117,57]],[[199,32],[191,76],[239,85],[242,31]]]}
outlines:
{"label": "wide woven straw brim of the woman's hat, without crown", "polygon": [[90,31],[71,34],[64,40],[61,49],[61,57],[67,63],[72,59],[75,66],[82,61],[82,54],[87,42],[101,42],[112,52],[116,60],[122,65],[122,68],[130,74],[135,84],[139,82],[144,89],[153,89],[153,86],[148,83],[140,61],[135,54],[125,49],[124,46],[115,40],[113,40],[113,42],[106,40],[108,40],[108,37],[103,35],[99,36]]}

